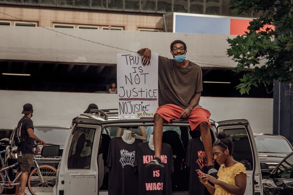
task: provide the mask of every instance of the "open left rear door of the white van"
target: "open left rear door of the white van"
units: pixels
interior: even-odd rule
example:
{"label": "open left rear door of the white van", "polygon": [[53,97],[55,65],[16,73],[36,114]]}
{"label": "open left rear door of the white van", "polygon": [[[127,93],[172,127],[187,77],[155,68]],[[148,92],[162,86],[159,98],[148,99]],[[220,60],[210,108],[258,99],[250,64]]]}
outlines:
{"label": "open left rear door of the white van", "polygon": [[87,120],[91,119],[75,123],[67,137],[57,169],[54,195],[98,194],[99,182],[103,181],[99,178],[97,163],[102,127],[87,124]]}

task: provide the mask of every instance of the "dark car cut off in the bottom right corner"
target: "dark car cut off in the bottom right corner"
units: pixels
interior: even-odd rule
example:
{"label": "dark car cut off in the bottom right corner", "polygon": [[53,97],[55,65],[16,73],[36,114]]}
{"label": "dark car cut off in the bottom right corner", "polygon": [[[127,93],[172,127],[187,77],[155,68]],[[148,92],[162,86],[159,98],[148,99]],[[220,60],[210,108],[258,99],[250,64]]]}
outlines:
{"label": "dark car cut off in the bottom right corner", "polygon": [[262,170],[262,185],[264,195],[293,194],[293,152],[286,156],[270,173]]}

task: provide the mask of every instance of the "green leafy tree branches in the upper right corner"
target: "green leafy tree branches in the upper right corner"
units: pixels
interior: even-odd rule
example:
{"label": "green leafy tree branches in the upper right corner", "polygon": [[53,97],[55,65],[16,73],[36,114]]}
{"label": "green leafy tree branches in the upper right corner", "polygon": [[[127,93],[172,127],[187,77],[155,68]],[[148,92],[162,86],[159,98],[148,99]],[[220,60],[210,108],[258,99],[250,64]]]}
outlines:
{"label": "green leafy tree branches in the upper right corner", "polygon": [[[237,72],[253,68],[236,87],[240,93],[249,92],[251,86],[268,86],[274,80],[292,81],[293,61],[293,7],[292,0],[232,0],[230,8],[236,15],[258,13],[246,34],[227,39],[227,54],[237,63]],[[274,26],[275,28],[272,28]]]}

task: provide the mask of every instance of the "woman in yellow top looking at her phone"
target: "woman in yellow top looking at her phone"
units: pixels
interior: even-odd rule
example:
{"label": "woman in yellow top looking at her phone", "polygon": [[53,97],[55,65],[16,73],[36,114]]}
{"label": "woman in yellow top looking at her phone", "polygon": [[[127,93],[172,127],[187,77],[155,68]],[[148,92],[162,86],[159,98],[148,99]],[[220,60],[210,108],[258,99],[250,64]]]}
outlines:
{"label": "woman in yellow top looking at her phone", "polygon": [[213,144],[213,153],[214,159],[222,165],[217,174],[218,179],[204,174],[199,176],[200,182],[213,195],[243,195],[246,188],[246,168],[233,159],[233,142],[226,137],[225,132],[220,132],[217,137]]}

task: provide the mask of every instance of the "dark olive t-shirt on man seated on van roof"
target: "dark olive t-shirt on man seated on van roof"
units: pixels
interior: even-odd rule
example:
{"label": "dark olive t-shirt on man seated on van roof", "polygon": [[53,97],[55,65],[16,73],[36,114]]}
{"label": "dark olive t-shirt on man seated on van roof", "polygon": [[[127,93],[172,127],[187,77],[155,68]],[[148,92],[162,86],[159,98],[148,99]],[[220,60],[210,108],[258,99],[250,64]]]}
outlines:
{"label": "dark olive t-shirt on man seated on van roof", "polygon": [[163,56],[159,56],[158,63],[159,106],[172,103],[187,108],[194,94],[202,91],[200,66],[189,61],[186,67],[180,68],[174,59]]}

